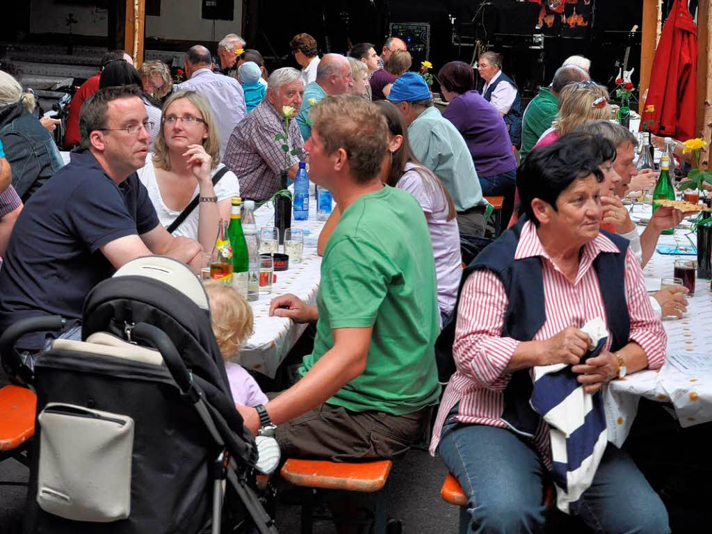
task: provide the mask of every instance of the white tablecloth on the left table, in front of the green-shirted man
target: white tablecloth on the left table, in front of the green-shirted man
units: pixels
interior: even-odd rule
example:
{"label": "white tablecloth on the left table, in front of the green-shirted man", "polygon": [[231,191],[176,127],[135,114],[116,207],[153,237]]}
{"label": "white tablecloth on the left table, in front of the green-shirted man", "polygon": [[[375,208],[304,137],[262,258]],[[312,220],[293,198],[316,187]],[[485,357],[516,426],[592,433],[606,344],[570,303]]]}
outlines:
{"label": "white tablecloth on the left table, in front of the green-shirted man", "polygon": [[[274,226],[274,209],[271,203],[263,204],[255,212],[255,219],[258,228]],[[276,272],[277,280],[273,283],[272,293],[260,295],[259,300],[250,303],[255,317],[254,332],[236,358],[236,362],[246,369],[274,378],[277,367],[305,330],[306,325],[297,325],[290,319],[269,317],[269,303],[277,295],[293,293],[308,304],[316,304],[321,269],[321,257],[316,253],[316,240],[323,226],[324,221],[316,219],[316,201],[312,196],[309,199],[309,219],[292,220],[292,228],[308,229],[310,232],[305,236],[303,261],[290,261],[287,271]],[[308,244],[313,246],[307,246]]]}

